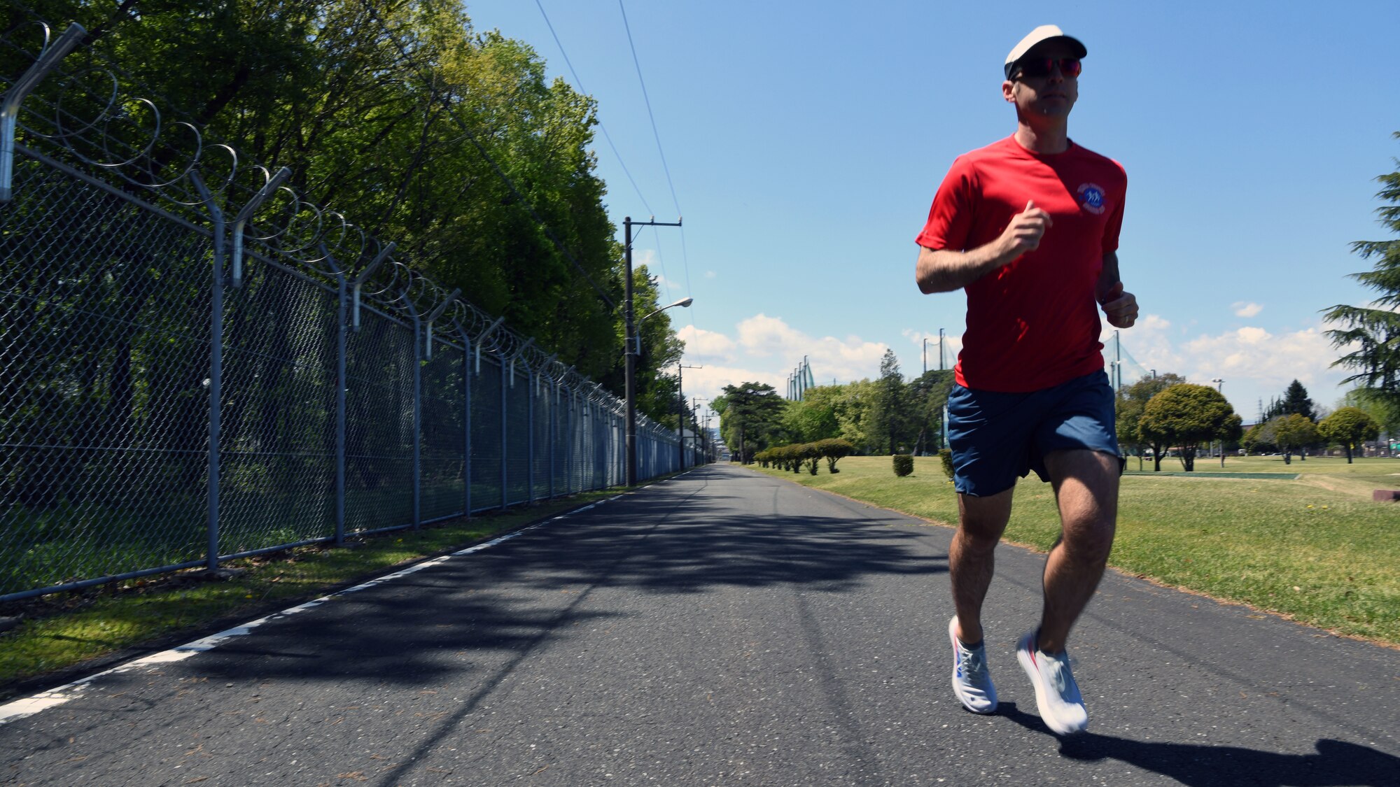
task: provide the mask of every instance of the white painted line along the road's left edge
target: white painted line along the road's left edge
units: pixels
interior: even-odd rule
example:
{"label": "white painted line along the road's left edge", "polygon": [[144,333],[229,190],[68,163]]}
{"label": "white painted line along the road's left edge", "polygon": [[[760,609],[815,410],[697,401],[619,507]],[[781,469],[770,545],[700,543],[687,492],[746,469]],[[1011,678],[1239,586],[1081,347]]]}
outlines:
{"label": "white painted line along the road's left edge", "polygon": [[393,571],[392,574],[385,574],[382,577],[375,577],[375,578],[370,580],[368,583],[361,583],[358,585],[349,587],[349,588],[342,590],[342,591],[336,591],[336,592],[333,592],[330,595],[323,595],[321,598],[308,601],[305,604],[298,604],[297,606],[290,606],[287,609],[283,609],[281,612],[273,612],[272,615],[267,615],[265,618],[259,618],[256,620],[249,620],[248,623],[244,623],[242,626],[234,626],[232,629],[224,629],[223,632],[218,632],[217,634],[210,634],[210,636],[207,636],[204,639],[200,639],[200,640],[185,643],[182,646],[172,647],[172,648],[161,651],[161,653],[154,653],[151,655],[146,655],[146,657],[141,657],[141,658],[137,658],[137,660],[133,660],[133,661],[127,661],[126,664],[113,667],[111,669],[104,669],[102,672],[98,672],[95,675],[88,675],[87,678],[83,678],[80,681],[74,681],[71,683],[66,683],[66,685],[59,686],[56,689],[49,689],[48,692],[39,692],[38,695],[34,695],[31,697],[25,697],[22,700],[13,700],[10,703],[0,704],[0,725],[8,724],[10,721],[14,721],[17,718],[24,718],[27,716],[34,716],[35,713],[39,713],[42,710],[48,710],[48,709],[55,707],[55,706],[60,706],[60,704],[63,704],[66,702],[76,700],[80,696],[83,696],[83,693],[87,690],[88,685],[91,685],[94,681],[97,681],[98,678],[102,678],[105,675],[118,675],[120,672],[130,672],[132,669],[140,669],[141,667],[153,667],[153,665],[157,665],[157,664],[174,664],[176,661],[185,661],[186,658],[189,658],[189,657],[192,657],[192,655],[195,655],[197,653],[204,653],[206,650],[213,650],[213,648],[218,647],[220,644],[224,643],[224,640],[228,640],[231,637],[241,637],[241,636],[249,634],[249,633],[252,633],[253,629],[256,629],[258,626],[262,626],[263,623],[269,623],[272,620],[280,620],[280,619],[283,619],[283,618],[286,618],[288,615],[295,615],[298,612],[305,612],[305,611],[308,611],[308,609],[311,609],[314,606],[321,606],[322,604],[325,604],[325,602],[328,602],[328,601],[330,601],[333,598],[342,597],[342,595],[347,595],[347,594],[351,594],[351,592],[360,592],[363,590],[368,590],[368,588],[372,588],[375,585],[382,585],[384,583],[389,583],[389,581],[393,581],[393,580],[398,580],[398,578],[402,578],[402,577],[407,577],[409,574],[412,574],[414,571],[421,571],[423,569],[427,569],[430,566],[437,566],[438,563],[445,563],[447,560],[449,560],[452,557],[461,557],[463,555],[472,555],[473,552],[480,552],[483,549],[490,549],[490,548],[493,548],[493,546],[496,546],[498,543],[507,542],[507,541],[510,541],[510,539],[512,539],[512,538],[515,538],[515,536],[518,536],[518,535],[521,535],[521,534],[524,534],[526,531],[532,531],[532,529],[535,529],[535,528],[538,528],[540,525],[545,525],[547,522],[556,522],[556,521],[563,520],[566,517],[573,517],[574,514],[582,514],[584,511],[588,511],[589,508],[596,508],[598,506],[601,506],[603,503],[609,503],[609,501],[617,500],[620,497],[622,497],[622,494],[619,494],[617,497],[609,497],[608,500],[599,500],[598,503],[592,503],[589,506],[584,506],[582,508],[574,508],[573,511],[570,511],[567,514],[560,514],[560,515],[557,515],[557,517],[554,517],[552,520],[545,520],[543,522],[535,522],[533,525],[529,525],[526,528],[521,528],[521,529],[514,531],[514,532],[508,532],[508,534],[505,534],[503,536],[493,538],[491,541],[487,541],[484,543],[479,543],[476,546],[469,546],[466,549],[461,549],[461,550],[452,552],[449,555],[442,555],[441,557],[434,557],[431,560],[424,560],[421,563],[414,563],[413,566],[409,566],[407,569],[402,569],[399,571]]}

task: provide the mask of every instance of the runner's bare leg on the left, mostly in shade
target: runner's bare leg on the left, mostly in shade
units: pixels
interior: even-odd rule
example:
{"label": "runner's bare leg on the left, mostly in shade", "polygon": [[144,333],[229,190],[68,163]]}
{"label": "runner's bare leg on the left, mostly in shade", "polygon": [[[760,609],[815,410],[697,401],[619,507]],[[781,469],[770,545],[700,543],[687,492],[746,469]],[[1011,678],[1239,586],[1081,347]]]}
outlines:
{"label": "runner's bare leg on the left, mostly in shade", "polygon": [[1012,489],[988,497],[958,496],[958,532],[948,548],[948,574],[958,609],[958,639],[963,643],[981,641],[981,602],[991,585],[993,552],[1011,518]]}

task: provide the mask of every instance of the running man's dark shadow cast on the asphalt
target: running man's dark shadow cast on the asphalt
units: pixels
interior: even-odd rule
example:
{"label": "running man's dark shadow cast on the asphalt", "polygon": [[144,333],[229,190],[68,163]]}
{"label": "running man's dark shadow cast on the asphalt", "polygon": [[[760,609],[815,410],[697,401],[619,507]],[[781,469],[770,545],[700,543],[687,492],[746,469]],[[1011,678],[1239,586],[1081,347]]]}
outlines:
{"label": "running man's dark shadow cast on the asphalt", "polygon": [[[1002,702],[997,716],[1051,735],[1039,716]],[[1315,755],[1278,755],[1239,746],[1151,744],[1084,732],[1060,739],[1060,755],[1084,762],[1119,759],[1193,787],[1400,787],[1400,758],[1345,741],[1320,739]]]}

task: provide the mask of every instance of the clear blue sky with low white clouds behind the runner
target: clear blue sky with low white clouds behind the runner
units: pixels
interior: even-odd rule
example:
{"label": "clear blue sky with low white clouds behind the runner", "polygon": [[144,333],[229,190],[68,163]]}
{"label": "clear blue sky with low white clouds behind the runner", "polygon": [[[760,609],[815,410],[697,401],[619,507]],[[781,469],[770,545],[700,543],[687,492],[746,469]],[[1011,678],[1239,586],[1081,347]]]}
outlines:
{"label": "clear blue sky with low white clouds behind the runner", "polygon": [[[1222,378],[1246,423],[1294,378],[1327,406],[1345,391],[1319,309],[1369,300],[1348,244],[1387,237],[1393,0],[624,0],[675,199],[617,0],[539,1],[616,144],[598,134],[619,234],[644,203],[685,217],[683,237],[647,230],[634,249],[694,297],[668,312],[704,365],[687,396],[781,392],[802,356],[819,382],[875,377],[886,347],[917,374],[939,328],[958,347],[965,298],[918,293],[913,238],[952,160],[1015,130],[1001,63],[1040,24],[1089,49],[1070,136],[1128,172],[1119,259],[1144,316],[1121,335],[1124,378]],[[577,87],[535,0],[466,10]]]}

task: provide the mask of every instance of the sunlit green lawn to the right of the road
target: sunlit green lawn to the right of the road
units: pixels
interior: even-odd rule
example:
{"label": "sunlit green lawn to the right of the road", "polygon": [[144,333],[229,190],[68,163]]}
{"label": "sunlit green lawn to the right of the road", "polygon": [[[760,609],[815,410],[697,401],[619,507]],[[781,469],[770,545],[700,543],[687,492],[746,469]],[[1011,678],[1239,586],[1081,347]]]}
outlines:
{"label": "sunlit green lawn to the right of the road", "polygon": [[[1162,471],[1180,471],[1180,462]],[[1211,464],[1214,462],[1214,464]],[[1218,461],[1198,461],[1219,472]],[[756,466],[756,465],[755,465]],[[1135,459],[1130,459],[1135,471]],[[1145,465],[1151,469],[1151,462]],[[766,472],[939,524],[958,521],[958,500],[937,457],[896,478],[889,457],[850,457],[825,469]],[[1373,503],[1400,489],[1400,459],[1228,458],[1225,473],[1277,478],[1128,475],[1109,563],[1130,574],[1280,612],[1337,633],[1400,644],[1400,504]],[[1060,532],[1050,485],[1016,486],[1007,539],[1047,550]]]}

